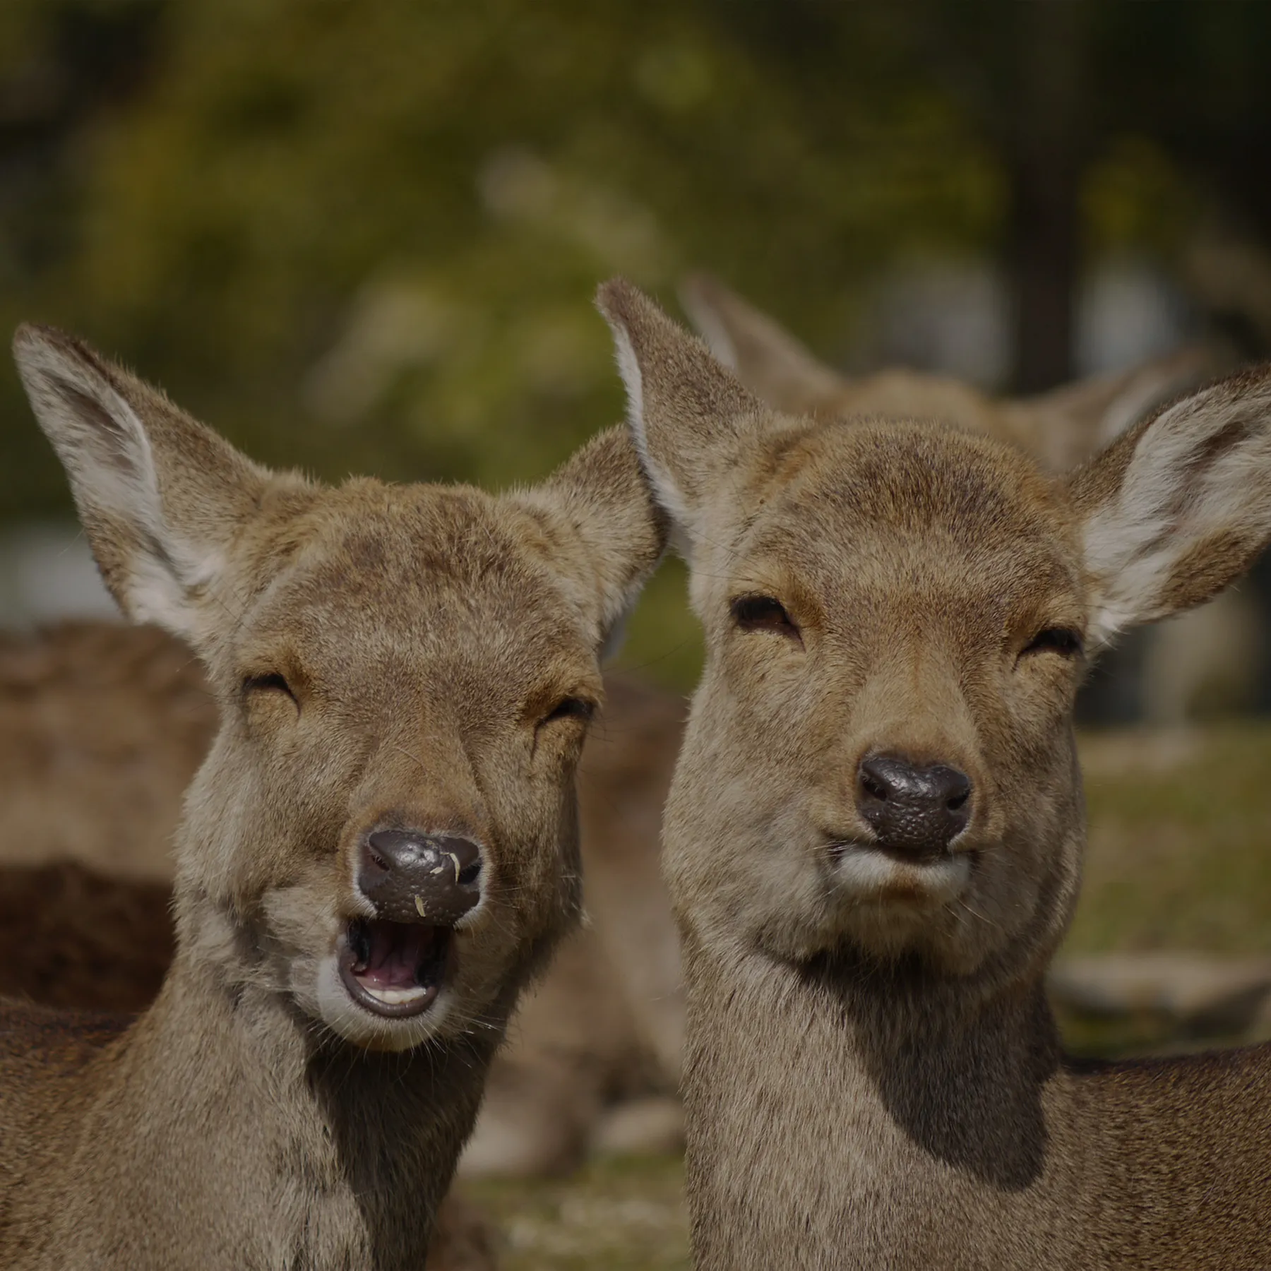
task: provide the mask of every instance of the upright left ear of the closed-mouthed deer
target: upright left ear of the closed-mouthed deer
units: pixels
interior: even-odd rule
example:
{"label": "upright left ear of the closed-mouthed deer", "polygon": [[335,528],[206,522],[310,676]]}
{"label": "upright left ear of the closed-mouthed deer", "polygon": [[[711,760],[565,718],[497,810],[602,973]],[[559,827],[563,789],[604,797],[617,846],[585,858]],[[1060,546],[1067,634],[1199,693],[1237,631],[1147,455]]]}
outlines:
{"label": "upright left ear of the closed-mouthed deer", "polygon": [[596,305],[614,333],[636,449],[689,554],[704,505],[763,435],[770,412],[629,282],[606,282]]}

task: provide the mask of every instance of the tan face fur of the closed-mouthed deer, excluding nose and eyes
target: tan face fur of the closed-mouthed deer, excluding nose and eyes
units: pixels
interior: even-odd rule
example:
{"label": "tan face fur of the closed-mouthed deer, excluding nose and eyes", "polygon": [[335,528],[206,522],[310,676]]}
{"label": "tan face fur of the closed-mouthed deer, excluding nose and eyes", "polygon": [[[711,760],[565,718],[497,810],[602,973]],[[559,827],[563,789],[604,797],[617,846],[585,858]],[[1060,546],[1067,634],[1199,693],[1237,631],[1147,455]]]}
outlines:
{"label": "tan face fur of the closed-mouthed deer, excluding nose and eyes", "polygon": [[[938,426],[824,425],[793,445],[780,428],[774,450],[759,447],[732,486],[732,515],[712,519],[693,553],[716,675],[698,695],[685,764],[700,747],[713,779],[705,799],[677,780],[669,817],[691,815],[731,846],[671,850],[672,891],[702,897],[694,924],[718,906],[735,934],[742,919],[749,939],[783,957],[846,935],[878,953],[918,944],[970,970],[1033,923],[1049,951],[1066,911],[1035,906],[1073,892],[1075,841],[1047,862],[1033,831],[1073,819],[1071,750],[1051,738],[1080,667],[1017,661],[1037,630],[1083,620],[1056,491],[1017,455]],[[1021,484],[1013,497],[998,489],[1003,470]],[[1022,539],[1038,541],[1021,550]],[[746,594],[779,597],[802,644],[737,633],[730,602]],[[880,891],[833,867],[827,844],[869,838],[855,773],[873,752],[966,771],[976,812],[960,853],[1010,859],[1028,871],[1027,891],[1019,874],[986,867],[915,905],[900,873]]]}

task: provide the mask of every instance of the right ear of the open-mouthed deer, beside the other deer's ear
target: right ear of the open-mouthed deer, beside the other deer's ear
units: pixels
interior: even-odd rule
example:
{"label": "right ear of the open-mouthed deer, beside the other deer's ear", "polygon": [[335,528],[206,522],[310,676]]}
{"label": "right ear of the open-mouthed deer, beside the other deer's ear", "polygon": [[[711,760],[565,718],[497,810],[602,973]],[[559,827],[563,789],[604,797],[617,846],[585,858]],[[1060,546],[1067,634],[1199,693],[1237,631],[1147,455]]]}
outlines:
{"label": "right ear of the open-mouthed deer, beside the other deer's ear", "polygon": [[552,517],[553,569],[569,578],[608,652],[666,549],[666,516],[630,435],[609,428],[592,437],[520,500]]}

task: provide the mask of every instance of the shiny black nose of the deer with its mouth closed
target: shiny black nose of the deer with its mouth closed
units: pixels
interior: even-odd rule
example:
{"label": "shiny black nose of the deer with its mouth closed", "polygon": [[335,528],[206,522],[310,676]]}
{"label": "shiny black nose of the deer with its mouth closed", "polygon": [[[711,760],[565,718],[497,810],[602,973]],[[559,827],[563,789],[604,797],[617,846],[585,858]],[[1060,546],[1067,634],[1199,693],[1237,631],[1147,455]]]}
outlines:
{"label": "shiny black nose of the deer with its mouth closed", "polygon": [[878,845],[901,855],[937,857],[971,820],[971,779],[956,768],[915,768],[873,755],[857,773],[857,807]]}

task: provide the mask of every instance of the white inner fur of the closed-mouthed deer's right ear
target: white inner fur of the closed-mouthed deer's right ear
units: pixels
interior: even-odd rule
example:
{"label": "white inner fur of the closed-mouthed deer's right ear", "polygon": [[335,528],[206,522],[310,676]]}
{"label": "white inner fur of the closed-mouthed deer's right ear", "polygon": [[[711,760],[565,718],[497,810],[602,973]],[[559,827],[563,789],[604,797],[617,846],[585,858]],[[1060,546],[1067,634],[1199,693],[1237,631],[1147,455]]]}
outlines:
{"label": "white inner fur of the closed-mouthed deer's right ear", "polygon": [[[1239,391],[1239,390],[1235,390]],[[1229,385],[1188,398],[1148,426],[1115,498],[1089,516],[1085,562],[1096,580],[1089,643],[1112,639],[1173,611],[1167,599],[1174,568],[1205,539],[1271,531],[1271,411],[1266,385],[1232,395]],[[1225,428],[1248,431],[1206,461]]]}

